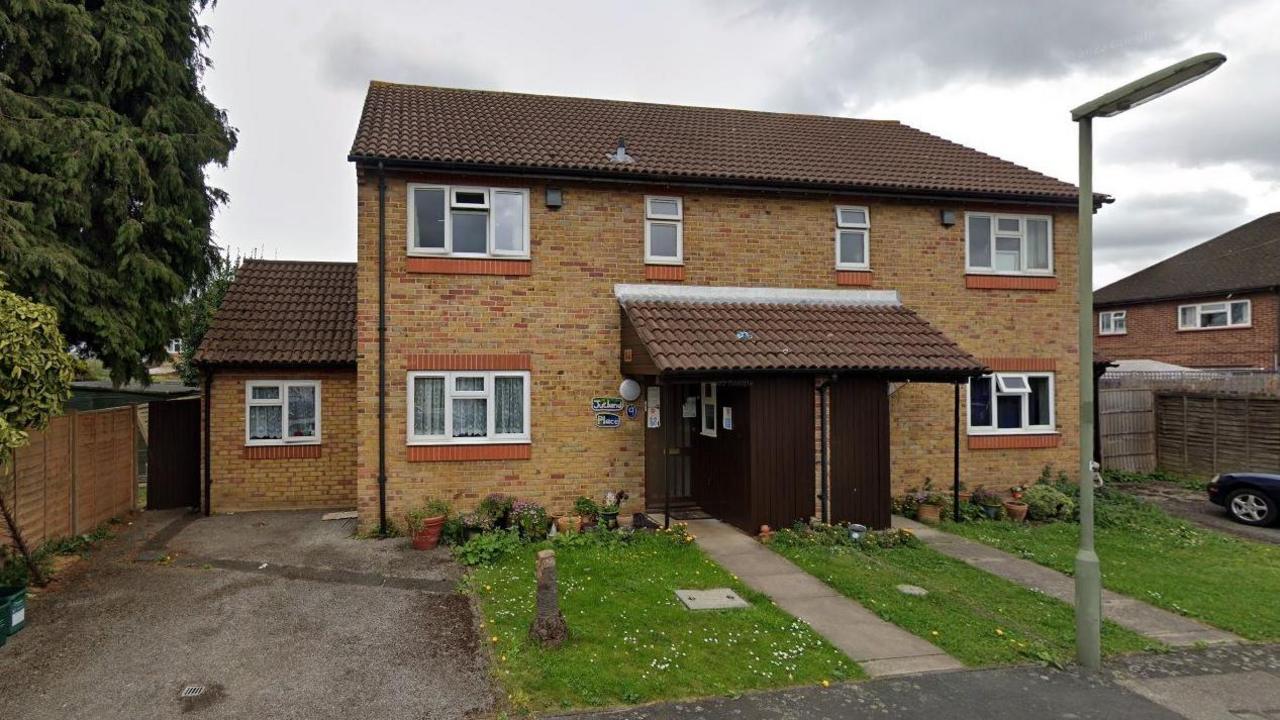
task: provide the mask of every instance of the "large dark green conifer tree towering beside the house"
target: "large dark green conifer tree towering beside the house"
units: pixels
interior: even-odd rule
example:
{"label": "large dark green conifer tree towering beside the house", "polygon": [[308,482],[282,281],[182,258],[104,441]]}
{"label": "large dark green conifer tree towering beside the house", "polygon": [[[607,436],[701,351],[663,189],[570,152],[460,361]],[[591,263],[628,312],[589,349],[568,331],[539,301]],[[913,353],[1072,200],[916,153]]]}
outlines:
{"label": "large dark green conifer tree towering beside the house", "polygon": [[205,167],[236,132],[201,87],[206,5],[0,4],[0,269],[116,382],[147,382],[218,258]]}

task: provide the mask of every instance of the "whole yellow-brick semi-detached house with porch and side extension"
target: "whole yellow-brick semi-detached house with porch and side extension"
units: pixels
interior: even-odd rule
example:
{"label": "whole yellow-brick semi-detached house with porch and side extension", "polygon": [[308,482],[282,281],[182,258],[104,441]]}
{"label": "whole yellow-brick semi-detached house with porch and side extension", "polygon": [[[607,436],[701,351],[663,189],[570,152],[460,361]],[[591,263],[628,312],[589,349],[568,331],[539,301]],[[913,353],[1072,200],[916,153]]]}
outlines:
{"label": "whole yellow-brick semi-detached house with porch and side extension", "polygon": [[202,347],[214,511],[882,525],[956,446],[970,488],[1074,465],[1069,183],[897,122],[383,82],[348,158],[356,264],[250,261]]}

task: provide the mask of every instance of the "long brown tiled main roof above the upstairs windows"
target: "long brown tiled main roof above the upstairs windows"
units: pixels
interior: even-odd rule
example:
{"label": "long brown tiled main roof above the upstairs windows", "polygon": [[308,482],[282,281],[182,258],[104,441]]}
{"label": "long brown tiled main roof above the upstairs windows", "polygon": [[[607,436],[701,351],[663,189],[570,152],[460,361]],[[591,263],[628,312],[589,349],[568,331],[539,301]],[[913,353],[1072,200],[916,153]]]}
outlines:
{"label": "long brown tiled main roof above the upstairs windows", "polygon": [[[626,140],[632,163],[607,159]],[[1074,201],[1075,186],[895,120],[372,82],[352,160]]]}

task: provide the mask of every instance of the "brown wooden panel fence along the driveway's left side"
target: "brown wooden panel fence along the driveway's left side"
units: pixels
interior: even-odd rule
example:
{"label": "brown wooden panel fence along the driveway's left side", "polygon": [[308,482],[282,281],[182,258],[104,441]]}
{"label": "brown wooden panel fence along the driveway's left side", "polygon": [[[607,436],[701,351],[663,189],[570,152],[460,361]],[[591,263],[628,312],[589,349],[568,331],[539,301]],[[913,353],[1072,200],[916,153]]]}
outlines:
{"label": "brown wooden panel fence along the driveway's left side", "polygon": [[[88,532],[136,503],[134,409],[54,418],[0,469],[0,492],[31,546]],[[0,521],[0,541],[9,542]]]}

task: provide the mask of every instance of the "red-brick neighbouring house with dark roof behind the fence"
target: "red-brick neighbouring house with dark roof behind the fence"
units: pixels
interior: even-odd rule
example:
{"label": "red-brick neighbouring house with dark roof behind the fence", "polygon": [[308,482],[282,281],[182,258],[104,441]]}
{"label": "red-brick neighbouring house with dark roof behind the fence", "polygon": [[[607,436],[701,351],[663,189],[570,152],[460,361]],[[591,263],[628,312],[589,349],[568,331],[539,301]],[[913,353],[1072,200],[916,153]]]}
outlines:
{"label": "red-brick neighbouring house with dark roof behind the fence", "polygon": [[1093,293],[1098,352],[1188,368],[1280,370],[1280,213]]}

